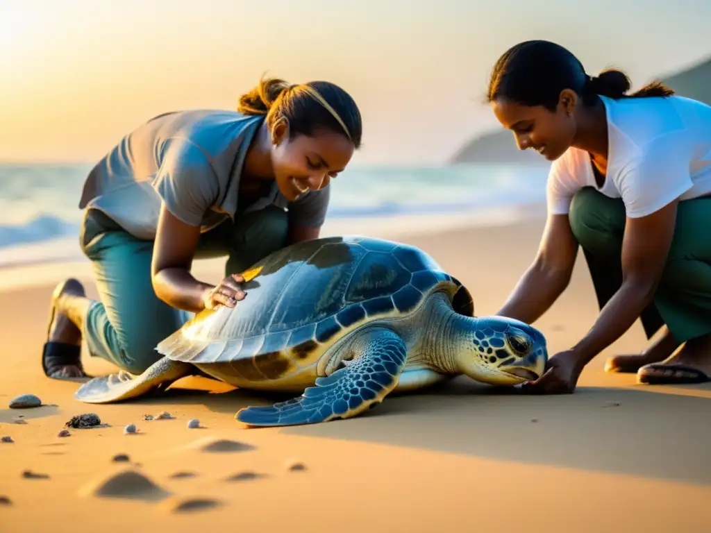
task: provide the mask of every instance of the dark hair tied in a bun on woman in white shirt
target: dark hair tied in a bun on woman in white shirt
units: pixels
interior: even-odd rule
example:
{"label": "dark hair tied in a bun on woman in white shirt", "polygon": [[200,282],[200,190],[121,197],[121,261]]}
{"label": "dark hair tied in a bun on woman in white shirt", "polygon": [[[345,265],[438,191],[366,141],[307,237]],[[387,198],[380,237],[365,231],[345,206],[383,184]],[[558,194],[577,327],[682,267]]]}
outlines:
{"label": "dark hair tied in a bun on woman in white shirt", "polygon": [[644,98],[674,94],[655,81],[626,94],[629,77],[616,69],[606,69],[595,77],[586,74],[582,63],[569,50],[550,41],[524,41],[506,50],[491,72],[488,102],[506,98],[528,106],[542,105],[555,111],[560,92],[571,89],[592,105],[598,95],[613,99]]}

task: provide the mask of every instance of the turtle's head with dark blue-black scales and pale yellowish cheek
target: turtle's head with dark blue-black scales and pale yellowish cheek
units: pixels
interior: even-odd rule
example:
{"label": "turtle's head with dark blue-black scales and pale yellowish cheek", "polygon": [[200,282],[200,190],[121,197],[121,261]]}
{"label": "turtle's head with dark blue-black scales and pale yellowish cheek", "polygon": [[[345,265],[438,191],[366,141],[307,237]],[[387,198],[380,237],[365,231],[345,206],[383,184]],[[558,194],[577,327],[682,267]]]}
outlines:
{"label": "turtle's head with dark blue-black scales and pale yellowish cheek", "polygon": [[493,385],[535,381],[545,370],[545,337],[533,326],[512,318],[470,319],[466,349],[459,353],[462,373]]}

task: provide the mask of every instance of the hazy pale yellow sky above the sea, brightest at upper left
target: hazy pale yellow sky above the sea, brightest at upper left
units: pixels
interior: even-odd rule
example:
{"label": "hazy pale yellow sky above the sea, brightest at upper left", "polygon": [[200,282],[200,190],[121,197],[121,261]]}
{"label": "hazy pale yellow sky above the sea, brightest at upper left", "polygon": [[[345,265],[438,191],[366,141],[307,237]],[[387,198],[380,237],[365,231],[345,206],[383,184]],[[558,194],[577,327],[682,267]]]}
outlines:
{"label": "hazy pale yellow sky above the sea, brightest at upper left", "polygon": [[518,41],[557,41],[635,87],[711,54],[711,0],[595,3],[0,0],[0,160],[95,161],[155,114],[234,109],[267,71],[351,92],[354,163],[437,164],[496,125],[488,73]]}

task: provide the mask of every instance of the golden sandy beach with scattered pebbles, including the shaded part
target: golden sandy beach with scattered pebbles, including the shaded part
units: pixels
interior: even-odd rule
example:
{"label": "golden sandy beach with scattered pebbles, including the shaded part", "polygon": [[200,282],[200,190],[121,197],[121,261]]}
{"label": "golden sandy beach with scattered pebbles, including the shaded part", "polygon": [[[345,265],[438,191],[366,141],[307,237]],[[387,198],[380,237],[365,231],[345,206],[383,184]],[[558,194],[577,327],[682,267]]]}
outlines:
{"label": "golden sandy beach with scattered pebbles, including the shaded part", "polygon": [[[397,238],[427,250],[461,279],[476,313],[486,315],[533,258],[542,225],[535,217]],[[387,234],[387,227],[380,231]],[[211,261],[196,270],[215,281],[220,267]],[[711,528],[711,387],[643,386],[634,375],[603,371],[607,356],[643,348],[638,324],[584,370],[572,395],[502,394],[460,378],[388,397],[355,419],[245,429],[234,419],[237,410],[268,397],[188,378],[162,397],[89,405],[73,398],[76,383],[44,377],[48,301],[54,281],[69,275],[96,295],[87,264],[0,271],[0,434],[14,441],[0,443],[0,497],[8,499],[0,503],[3,532]],[[580,254],[570,287],[535,325],[552,355],[596,316]],[[112,371],[83,353],[90,374]],[[9,409],[24,393],[47,405]],[[175,418],[144,420],[161,411]],[[58,437],[82,413],[108,425]],[[14,421],[19,415],[25,424]],[[193,418],[200,429],[188,429]],[[137,434],[124,434],[129,423]],[[127,460],[114,461],[117,454]],[[290,469],[295,463],[304,468]]]}

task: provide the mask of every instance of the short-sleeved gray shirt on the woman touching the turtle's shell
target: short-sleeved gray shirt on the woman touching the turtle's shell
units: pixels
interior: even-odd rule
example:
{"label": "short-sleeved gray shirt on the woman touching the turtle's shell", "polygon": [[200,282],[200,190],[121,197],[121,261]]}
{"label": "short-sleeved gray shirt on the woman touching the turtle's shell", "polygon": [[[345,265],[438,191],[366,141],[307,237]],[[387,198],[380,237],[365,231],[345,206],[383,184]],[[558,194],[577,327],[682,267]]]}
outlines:
{"label": "short-sleeved gray shirt on the woman touching the turtle's shell", "polygon": [[[150,119],[114,146],[87,176],[81,209],[104,212],[139,239],[154,239],[161,203],[205,232],[237,216],[240,175],[263,116],[183,111]],[[277,184],[244,212],[277,205],[297,225],[320,226],[329,188],[289,202]]]}

